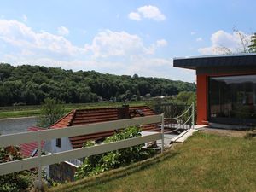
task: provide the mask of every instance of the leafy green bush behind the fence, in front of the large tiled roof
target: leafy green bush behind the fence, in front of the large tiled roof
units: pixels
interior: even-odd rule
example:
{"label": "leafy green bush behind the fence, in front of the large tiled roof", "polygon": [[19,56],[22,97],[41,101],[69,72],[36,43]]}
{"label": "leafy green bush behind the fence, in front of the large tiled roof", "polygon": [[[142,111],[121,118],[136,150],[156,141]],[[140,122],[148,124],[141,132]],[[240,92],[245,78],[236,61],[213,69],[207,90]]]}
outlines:
{"label": "leafy green bush behind the fence, in front of the large tiled roof", "polygon": [[[118,142],[124,139],[141,136],[141,129],[138,127],[129,127],[119,133],[108,137],[104,143]],[[94,143],[84,143],[84,147],[91,147]],[[104,154],[97,154],[84,159],[84,164],[79,167],[78,172],[75,174],[76,179],[87,176],[97,175],[120,166],[127,166],[132,162],[145,160],[154,155],[153,150],[143,149],[143,144],[111,151]]]}

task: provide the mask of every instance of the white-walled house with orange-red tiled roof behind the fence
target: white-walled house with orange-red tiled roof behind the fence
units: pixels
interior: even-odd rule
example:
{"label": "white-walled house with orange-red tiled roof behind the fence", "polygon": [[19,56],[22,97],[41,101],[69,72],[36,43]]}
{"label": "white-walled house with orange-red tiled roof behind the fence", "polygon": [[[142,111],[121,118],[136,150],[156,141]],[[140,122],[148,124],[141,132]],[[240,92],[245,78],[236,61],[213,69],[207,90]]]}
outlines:
{"label": "white-walled house with orange-red tiled roof behind the fence", "polygon": [[[135,117],[143,117],[155,115],[154,110],[148,106],[129,107],[124,105],[119,108],[95,108],[95,109],[74,109],[67,113],[64,117],[50,126],[50,129],[65,129],[74,125],[88,125],[105,121],[131,119]],[[143,131],[160,131],[160,127],[155,124],[143,125]],[[87,134],[76,137],[62,137],[53,139],[49,143],[49,147],[45,148],[50,153],[57,153],[74,148],[82,148],[83,144],[88,141],[102,142],[106,137],[113,136],[112,131],[102,131],[93,134]],[[76,168],[81,166],[83,160],[70,160],[58,165],[49,166],[49,177],[58,181],[72,181]]]}

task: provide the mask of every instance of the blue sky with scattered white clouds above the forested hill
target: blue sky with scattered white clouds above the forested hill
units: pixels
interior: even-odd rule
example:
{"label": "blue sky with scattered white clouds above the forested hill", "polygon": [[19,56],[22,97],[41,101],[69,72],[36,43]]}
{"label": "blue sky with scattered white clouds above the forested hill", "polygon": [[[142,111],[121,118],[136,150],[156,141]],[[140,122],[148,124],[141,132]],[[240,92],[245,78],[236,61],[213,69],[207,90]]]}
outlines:
{"label": "blue sky with scattered white clouds above the forested hill", "polygon": [[3,1],[0,62],[194,82],[174,57],[241,47],[256,32],[253,0]]}

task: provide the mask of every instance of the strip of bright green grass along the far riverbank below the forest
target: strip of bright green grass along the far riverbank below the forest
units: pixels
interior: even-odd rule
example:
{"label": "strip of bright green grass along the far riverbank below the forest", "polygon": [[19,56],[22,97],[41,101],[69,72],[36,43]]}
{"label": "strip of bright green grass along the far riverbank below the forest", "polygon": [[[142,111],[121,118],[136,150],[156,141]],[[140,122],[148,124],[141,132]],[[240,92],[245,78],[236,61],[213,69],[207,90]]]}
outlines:
{"label": "strip of bright green grass along the far riverbank below the forest", "polygon": [[[75,103],[65,104],[65,112],[68,113],[73,109],[78,108],[107,108],[119,107],[124,102],[94,102],[94,103]],[[145,102],[125,102],[130,106],[145,105]],[[4,118],[18,118],[18,117],[31,117],[38,116],[40,113],[40,106],[11,106],[0,107],[0,119]]]}

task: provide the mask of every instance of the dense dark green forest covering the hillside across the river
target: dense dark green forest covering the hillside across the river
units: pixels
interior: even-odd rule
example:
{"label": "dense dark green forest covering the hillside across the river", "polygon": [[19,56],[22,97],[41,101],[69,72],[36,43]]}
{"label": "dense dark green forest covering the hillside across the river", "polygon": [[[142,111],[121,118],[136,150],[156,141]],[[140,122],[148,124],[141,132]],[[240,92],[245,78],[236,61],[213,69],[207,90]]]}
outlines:
{"label": "dense dark green forest covering the hillside across the river", "polygon": [[67,103],[139,100],[195,91],[195,84],[134,74],[112,75],[55,67],[0,64],[0,106],[40,104],[45,98]]}

